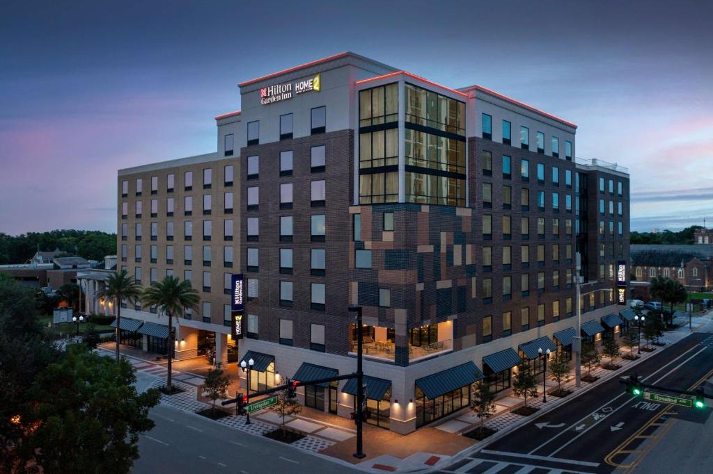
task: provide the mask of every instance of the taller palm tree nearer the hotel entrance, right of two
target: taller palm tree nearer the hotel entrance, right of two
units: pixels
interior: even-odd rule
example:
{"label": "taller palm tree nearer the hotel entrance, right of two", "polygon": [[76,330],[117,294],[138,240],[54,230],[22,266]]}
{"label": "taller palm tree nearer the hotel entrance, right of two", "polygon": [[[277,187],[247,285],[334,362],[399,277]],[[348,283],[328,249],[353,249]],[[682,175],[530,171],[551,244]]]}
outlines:
{"label": "taller palm tree nearer the hotel entrance, right of two", "polygon": [[165,312],[168,315],[168,378],[166,379],[166,391],[171,394],[173,390],[171,387],[173,316],[183,316],[183,311],[188,308],[198,311],[200,296],[198,291],[190,285],[190,281],[180,281],[178,278],[169,275],[162,281],[151,283],[151,286],[144,290],[141,300],[144,305],[157,307],[159,314]]}

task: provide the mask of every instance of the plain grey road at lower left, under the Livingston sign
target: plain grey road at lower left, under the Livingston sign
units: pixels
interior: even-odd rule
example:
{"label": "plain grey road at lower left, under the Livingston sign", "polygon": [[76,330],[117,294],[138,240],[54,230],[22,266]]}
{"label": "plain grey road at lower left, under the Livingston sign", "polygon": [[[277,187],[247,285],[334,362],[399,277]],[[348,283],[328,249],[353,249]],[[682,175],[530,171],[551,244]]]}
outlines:
{"label": "plain grey road at lower left, under the Livingston sign", "polygon": [[[138,377],[140,390],[153,381]],[[139,437],[133,473],[363,473],[170,406],[155,406],[150,418],[156,426]]]}

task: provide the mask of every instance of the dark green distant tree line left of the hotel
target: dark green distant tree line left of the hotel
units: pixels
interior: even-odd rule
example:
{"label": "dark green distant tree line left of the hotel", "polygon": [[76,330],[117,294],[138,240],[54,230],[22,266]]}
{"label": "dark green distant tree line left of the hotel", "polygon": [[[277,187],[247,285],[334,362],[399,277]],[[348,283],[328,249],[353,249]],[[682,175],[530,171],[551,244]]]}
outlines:
{"label": "dark green distant tree line left of the hotel", "polygon": [[116,254],[116,233],[72,229],[29,232],[19,236],[0,233],[0,265],[24,263],[34,256],[38,246],[45,252],[58,248],[67,255],[102,260],[107,255]]}

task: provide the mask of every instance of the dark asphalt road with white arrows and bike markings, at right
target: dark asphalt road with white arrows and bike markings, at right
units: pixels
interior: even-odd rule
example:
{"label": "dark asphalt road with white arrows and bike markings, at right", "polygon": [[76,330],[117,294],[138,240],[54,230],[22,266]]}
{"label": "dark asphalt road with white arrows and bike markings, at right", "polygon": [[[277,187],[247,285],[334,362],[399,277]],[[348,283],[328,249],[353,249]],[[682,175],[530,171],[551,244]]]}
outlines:
{"label": "dark asphalt road with white arrows and bike markings, at right", "polygon": [[[693,333],[622,375],[636,372],[645,384],[690,389],[713,374],[710,336]],[[610,473],[639,463],[647,454],[642,443],[665,436],[670,420],[685,418],[703,426],[709,414],[710,409],[671,409],[667,404],[647,403],[625,394],[615,378],[485,448],[474,448],[467,458],[441,472]]]}

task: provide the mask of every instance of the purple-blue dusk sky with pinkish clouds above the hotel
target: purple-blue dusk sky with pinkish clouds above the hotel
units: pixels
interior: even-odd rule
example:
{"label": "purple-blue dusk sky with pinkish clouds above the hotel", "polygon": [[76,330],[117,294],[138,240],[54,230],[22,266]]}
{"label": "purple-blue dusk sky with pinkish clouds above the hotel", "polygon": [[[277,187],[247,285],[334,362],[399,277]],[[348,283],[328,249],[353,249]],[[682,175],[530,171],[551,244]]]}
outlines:
{"label": "purple-blue dusk sky with pinkish clouds above the hotel", "polygon": [[212,152],[237,83],[354,51],[579,125],[632,230],[713,223],[713,2],[3,1],[0,232],[116,232],[119,168]]}

